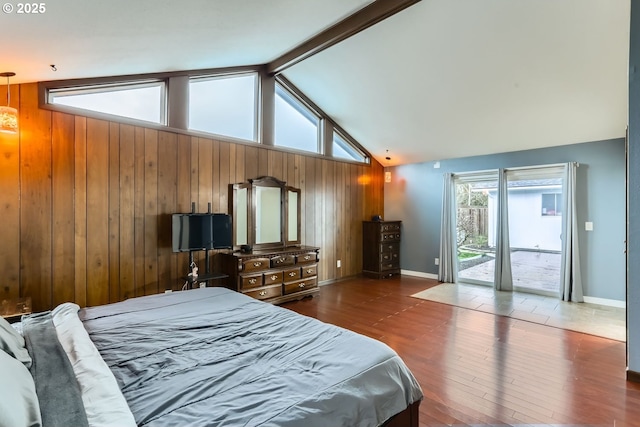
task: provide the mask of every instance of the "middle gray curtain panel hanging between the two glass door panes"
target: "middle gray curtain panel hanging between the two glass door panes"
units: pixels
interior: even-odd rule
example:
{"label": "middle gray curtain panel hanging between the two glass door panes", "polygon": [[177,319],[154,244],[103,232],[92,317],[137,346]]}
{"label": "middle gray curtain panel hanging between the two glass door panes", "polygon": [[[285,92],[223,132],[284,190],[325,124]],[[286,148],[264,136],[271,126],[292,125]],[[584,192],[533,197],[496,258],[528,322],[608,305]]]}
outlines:
{"label": "middle gray curtain panel hanging between the two glass door panes", "polygon": [[511,250],[509,248],[509,215],[507,203],[507,171],[498,171],[498,212],[496,218],[496,264],[495,288],[498,291],[513,291],[511,275]]}

